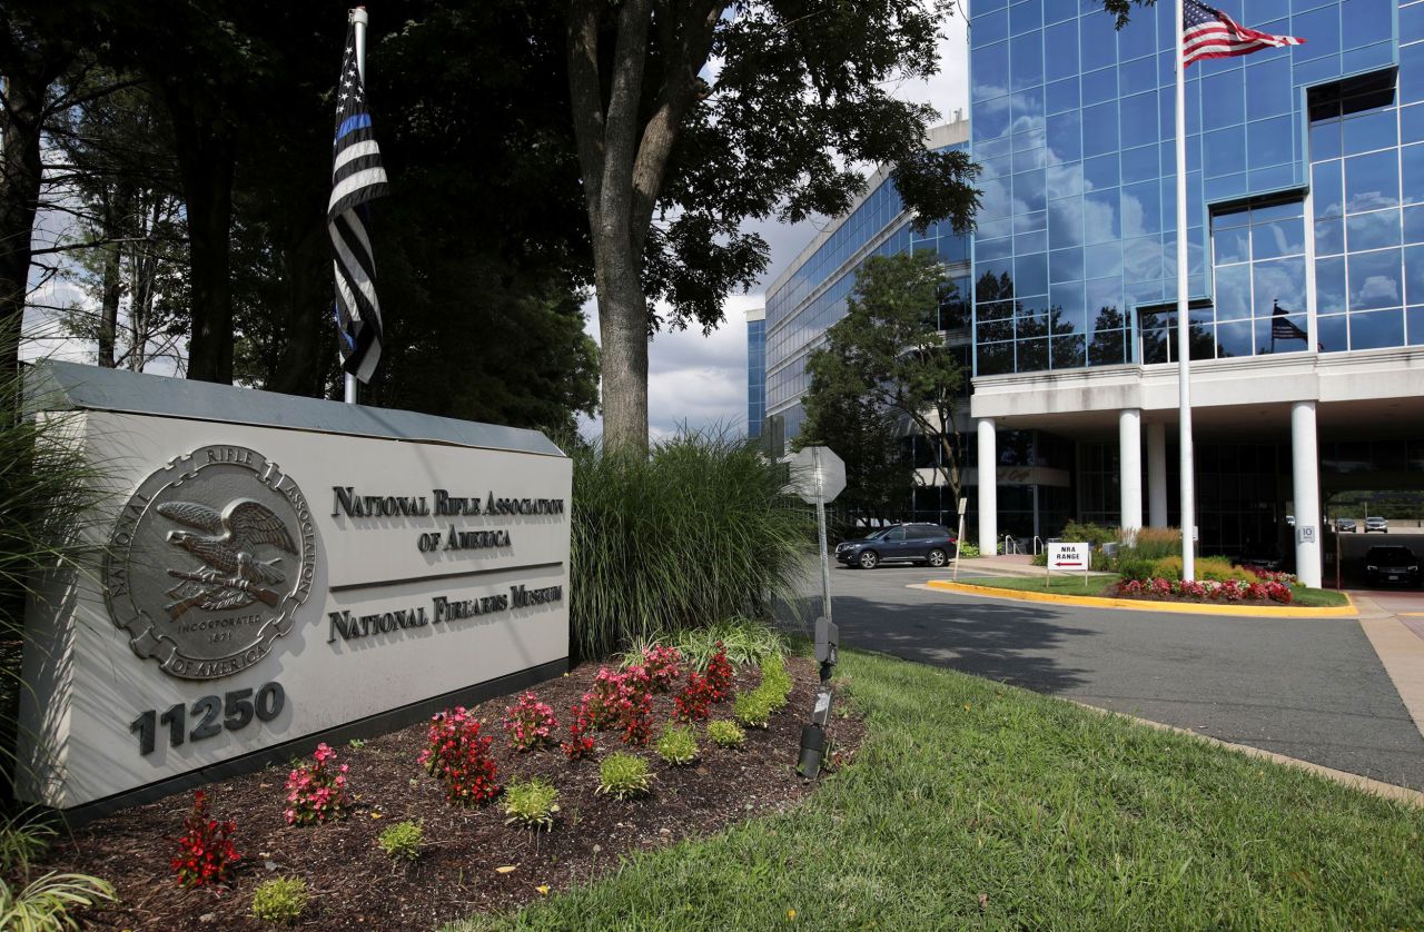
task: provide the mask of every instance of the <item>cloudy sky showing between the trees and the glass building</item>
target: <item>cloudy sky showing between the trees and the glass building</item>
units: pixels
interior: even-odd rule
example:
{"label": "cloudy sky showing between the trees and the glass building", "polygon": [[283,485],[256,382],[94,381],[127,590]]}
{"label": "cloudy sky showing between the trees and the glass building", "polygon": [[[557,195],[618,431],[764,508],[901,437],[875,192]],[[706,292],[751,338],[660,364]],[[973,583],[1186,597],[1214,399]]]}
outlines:
{"label": "cloudy sky showing between the trees and the glass building", "polygon": [[[940,41],[940,73],[930,81],[904,81],[894,90],[903,100],[926,101],[953,120],[968,108],[968,38],[961,16],[950,20]],[[648,350],[648,433],[654,440],[691,430],[746,431],[746,310],[766,303],[766,289],[800,255],[826,222],[787,225],[748,223],[770,246],[770,263],[758,286],[731,295],[723,305],[726,320],[708,336],[696,327],[659,333]],[[598,307],[584,306],[585,329],[598,340]],[[581,418],[585,435],[602,431],[600,418]]]}

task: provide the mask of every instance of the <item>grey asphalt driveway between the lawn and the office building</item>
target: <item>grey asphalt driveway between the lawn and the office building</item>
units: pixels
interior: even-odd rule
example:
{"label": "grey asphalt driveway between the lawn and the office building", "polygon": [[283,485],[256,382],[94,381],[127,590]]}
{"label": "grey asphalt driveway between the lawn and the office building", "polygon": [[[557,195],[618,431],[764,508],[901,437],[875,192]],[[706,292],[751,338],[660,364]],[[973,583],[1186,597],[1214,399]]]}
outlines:
{"label": "grey asphalt driveway between the lawn and the office building", "polygon": [[834,569],[842,643],[1424,788],[1424,738],[1354,619],[1078,609],[906,588],[931,578],[944,573]]}

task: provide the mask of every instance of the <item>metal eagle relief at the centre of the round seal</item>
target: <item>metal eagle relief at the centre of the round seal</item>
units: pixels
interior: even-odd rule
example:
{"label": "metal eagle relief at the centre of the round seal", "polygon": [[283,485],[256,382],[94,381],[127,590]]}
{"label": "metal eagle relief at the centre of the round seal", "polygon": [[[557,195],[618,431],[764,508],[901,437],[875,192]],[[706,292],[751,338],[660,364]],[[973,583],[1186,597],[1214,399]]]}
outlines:
{"label": "metal eagle relief at the centre of the round seal", "polygon": [[194,608],[219,612],[256,600],[271,606],[281,602],[269,586],[286,581],[282,558],[258,559],[256,549],[266,544],[286,554],[298,551],[286,525],[271,508],[238,498],[221,512],[198,502],[164,502],[158,514],[198,529],[169,531],[168,542],[206,563],[199,572],[168,571],[169,576],[182,581],[167,593],[174,599],[164,606],[169,618],[177,619]]}

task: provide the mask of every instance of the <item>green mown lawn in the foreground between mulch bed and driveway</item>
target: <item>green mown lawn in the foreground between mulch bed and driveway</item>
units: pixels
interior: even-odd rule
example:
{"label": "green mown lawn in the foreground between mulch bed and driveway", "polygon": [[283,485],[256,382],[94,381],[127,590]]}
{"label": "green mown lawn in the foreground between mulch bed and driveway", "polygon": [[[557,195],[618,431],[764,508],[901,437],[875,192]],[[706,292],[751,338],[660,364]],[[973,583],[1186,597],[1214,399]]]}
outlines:
{"label": "green mown lawn in the foreground between mulch bed and driveway", "polygon": [[806,805],[457,928],[1424,925],[1421,810],[960,673],[840,657],[870,734]]}

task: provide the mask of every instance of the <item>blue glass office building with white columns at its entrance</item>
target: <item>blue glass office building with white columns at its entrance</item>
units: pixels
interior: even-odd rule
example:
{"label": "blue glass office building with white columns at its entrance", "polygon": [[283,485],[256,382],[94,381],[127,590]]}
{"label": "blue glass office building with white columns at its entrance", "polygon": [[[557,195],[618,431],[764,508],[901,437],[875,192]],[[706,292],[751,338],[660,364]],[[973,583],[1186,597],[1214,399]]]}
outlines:
{"label": "blue glass office building with white columns at its entrance", "polygon": [[[1333,495],[1424,488],[1424,3],[1216,6],[1306,44],[1186,73],[1195,518],[1205,552],[1317,579]],[[968,0],[981,541],[1180,521],[1173,7],[1116,30],[1095,0]],[[769,413],[793,417],[844,262],[900,235],[823,236],[783,276]],[[1337,468],[1364,448],[1393,452]]]}

